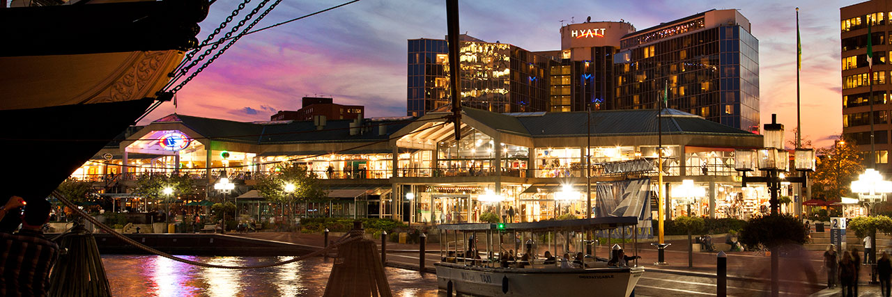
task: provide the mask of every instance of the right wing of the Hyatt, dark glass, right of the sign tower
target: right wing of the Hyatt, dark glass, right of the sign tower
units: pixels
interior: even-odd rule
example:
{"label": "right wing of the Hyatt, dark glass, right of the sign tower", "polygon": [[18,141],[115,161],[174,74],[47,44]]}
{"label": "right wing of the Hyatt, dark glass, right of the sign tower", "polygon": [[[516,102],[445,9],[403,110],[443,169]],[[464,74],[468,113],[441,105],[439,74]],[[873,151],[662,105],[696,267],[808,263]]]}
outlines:
{"label": "right wing of the Hyatt, dark glass, right of the sign tower", "polygon": [[667,105],[759,130],[759,44],[737,10],[711,10],[630,33],[614,55],[611,109]]}

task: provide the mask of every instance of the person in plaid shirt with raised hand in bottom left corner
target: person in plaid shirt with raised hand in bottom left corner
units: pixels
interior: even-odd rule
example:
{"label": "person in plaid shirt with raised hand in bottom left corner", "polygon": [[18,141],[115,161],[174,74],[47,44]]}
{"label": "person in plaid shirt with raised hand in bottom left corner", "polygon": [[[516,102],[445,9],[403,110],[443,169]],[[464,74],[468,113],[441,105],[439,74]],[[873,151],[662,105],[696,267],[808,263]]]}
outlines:
{"label": "person in plaid shirt with raised hand in bottom left corner", "polygon": [[[12,197],[0,207],[6,215],[8,205],[25,205],[21,197]],[[44,224],[50,220],[52,205],[45,199],[30,201],[16,234],[0,233],[0,253],[3,281],[0,296],[46,296],[50,287],[50,270],[59,257],[59,245],[44,237]],[[10,213],[13,215],[13,213]],[[2,218],[0,218],[2,219]]]}

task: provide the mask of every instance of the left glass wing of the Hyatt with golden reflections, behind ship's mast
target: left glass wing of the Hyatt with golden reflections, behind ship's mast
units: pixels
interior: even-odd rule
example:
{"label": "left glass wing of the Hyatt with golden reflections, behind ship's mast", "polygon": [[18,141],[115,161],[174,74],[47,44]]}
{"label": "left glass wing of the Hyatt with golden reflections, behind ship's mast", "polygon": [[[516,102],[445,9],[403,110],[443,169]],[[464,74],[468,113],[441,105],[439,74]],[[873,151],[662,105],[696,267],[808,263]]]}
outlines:
{"label": "left glass wing of the Hyatt with golden reflections, behind ship's mast", "polygon": [[[492,112],[546,111],[548,58],[511,44],[460,36],[461,104]],[[407,114],[450,106],[449,49],[443,39],[410,39]]]}

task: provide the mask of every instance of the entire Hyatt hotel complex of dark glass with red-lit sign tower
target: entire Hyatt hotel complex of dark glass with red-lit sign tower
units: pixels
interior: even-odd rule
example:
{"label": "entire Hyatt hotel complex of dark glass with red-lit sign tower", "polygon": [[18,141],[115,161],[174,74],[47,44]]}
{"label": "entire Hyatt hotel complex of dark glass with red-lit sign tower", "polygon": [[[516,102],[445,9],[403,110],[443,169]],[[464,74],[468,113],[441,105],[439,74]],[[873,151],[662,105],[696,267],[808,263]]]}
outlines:
{"label": "entire Hyatt hotel complex of dark glass with red-lit sign tower", "polygon": [[[561,48],[529,52],[463,35],[462,105],[500,113],[668,108],[759,131],[758,40],[737,10],[637,30],[624,21],[560,28]],[[449,105],[446,41],[409,40],[408,115]]]}

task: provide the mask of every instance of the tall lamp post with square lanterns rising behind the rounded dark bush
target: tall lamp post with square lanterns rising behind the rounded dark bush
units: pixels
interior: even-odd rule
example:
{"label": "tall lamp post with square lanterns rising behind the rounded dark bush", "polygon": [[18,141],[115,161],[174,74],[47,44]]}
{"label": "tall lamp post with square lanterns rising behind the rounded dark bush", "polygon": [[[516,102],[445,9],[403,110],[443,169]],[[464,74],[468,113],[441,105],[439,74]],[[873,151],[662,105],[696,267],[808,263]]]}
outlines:
{"label": "tall lamp post with square lanterns rising behind the rounded dark bush", "polygon": [[[747,182],[764,182],[771,192],[771,214],[779,213],[778,192],[780,181],[790,183],[808,184],[808,172],[814,171],[814,149],[797,148],[794,154],[795,168],[802,176],[781,177],[780,174],[788,171],[789,152],[783,149],[783,124],[777,123],[777,115],[772,114],[772,123],[764,124],[764,148],[738,149],[734,152],[734,169],[743,173],[742,186],[747,187]],[[764,177],[749,177],[747,172],[759,171],[765,173]],[[803,197],[805,199],[805,197]],[[778,282],[778,253],[777,248],[772,248],[772,296],[780,293]]]}

